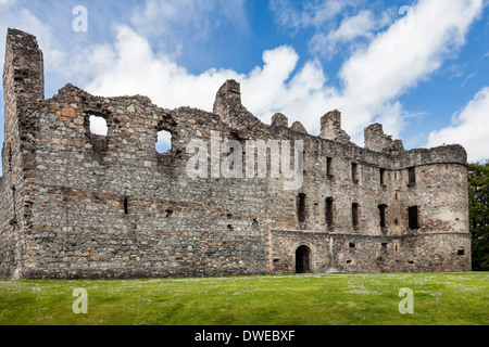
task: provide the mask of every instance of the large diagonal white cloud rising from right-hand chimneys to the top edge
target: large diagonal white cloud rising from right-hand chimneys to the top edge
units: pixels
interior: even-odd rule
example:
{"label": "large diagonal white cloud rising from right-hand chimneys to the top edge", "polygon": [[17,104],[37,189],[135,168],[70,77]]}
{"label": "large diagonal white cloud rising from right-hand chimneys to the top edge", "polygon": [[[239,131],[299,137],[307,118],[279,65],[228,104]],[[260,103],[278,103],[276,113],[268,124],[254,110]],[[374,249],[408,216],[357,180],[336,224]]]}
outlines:
{"label": "large diagonal white cloud rising from right-hand chimneys to the top edge", "polygon": [[358,138],[365,125],[379,118],[387,123],[386,132],[398,136],[404,113],[398,98],[456,53],[481,9],[480,0],[419,1],[409,30],[409,18],[403,17],[352,54],[339,73],[346,129]]}

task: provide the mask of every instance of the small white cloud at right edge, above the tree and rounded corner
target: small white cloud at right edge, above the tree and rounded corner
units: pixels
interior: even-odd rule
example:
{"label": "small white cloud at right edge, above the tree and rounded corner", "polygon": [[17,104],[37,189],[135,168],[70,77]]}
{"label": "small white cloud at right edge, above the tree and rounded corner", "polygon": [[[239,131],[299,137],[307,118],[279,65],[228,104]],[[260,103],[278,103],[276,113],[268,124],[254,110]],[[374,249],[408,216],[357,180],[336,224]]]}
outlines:
{"label": "small white cloud at right edge, above the tree and rounded corner", "polygon": [[452,117],[452,125],[432,131],[427,146],[459,143],[468,154],[468,160],[489,158],[489,87],[480,89],[465,108]]}

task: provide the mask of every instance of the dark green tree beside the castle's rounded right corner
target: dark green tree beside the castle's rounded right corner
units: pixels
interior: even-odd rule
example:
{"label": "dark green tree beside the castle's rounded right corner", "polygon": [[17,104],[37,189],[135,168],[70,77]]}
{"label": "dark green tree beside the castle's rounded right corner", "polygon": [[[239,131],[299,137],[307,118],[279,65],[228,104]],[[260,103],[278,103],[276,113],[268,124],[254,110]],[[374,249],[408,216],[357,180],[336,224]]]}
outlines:
{"label": "dark green tree beside the castle's rounded right corner", "polygon": [[489,270],[489,160],[468,164],[472,268]]}

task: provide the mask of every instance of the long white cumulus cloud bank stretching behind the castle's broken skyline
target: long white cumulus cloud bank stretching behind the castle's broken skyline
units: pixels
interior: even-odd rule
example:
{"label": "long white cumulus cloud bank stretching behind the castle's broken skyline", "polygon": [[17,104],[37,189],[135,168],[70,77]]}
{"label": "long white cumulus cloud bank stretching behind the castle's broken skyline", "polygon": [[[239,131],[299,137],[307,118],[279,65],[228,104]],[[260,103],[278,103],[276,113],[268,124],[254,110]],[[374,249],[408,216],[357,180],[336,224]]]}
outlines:
{"label": "long white cumulus cloud bank stretching behind the castle's broken skyline", "polygon": [[[363,129],[373,121],[381,121],[386,132],[399,134],[408,113],[398,99],[456,52],[480,11],[481,1],[477,0],[419,1],[413,8],[415,22],[410,30],[405,29],[408,18],[400,18],[351,54],[339,72],[341,87],[328,86],[318,60],[298,66],[297,52],[287,46],[265,51],[263,66],[248,74],[209,69],[192,75],[171,56],[156,55],[143,36],[120,26],[113,46],[97,48],[103,60],[113,57],[110,63],[96,61],[97,55],[88,60],[90,66],[103,68],[86,88],[102,95],[142,93],[168,108],[189,105],[211,111],[218,87],[234,78],[241,82],[243,104],[263,121],[281,112],[317,134],[319,117],[338,108],[344,115],[343,128],[360,144]],[[367,12],[354,21],[373,22]],[[342,27],[335,35],[358,35],[351,23]]]}

